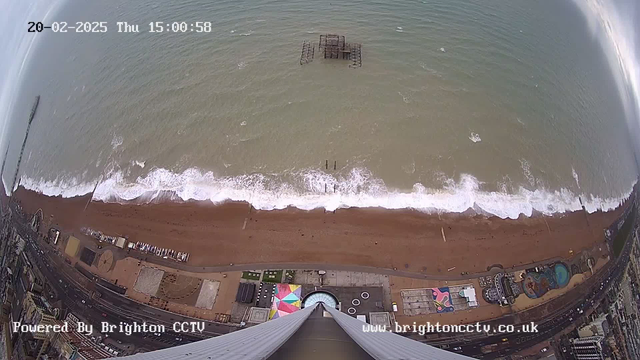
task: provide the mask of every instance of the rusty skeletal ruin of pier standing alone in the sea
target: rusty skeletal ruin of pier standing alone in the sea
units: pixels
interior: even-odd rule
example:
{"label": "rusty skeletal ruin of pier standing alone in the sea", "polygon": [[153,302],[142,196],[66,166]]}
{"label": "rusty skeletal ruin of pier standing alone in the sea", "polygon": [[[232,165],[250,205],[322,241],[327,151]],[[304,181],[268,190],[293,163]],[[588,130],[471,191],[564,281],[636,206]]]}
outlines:
{"label": "rusty skeletal ruin of pier standing alone in the sea", "polygon": [[[350,68],[362,67],[362,44],[348,43],[343,35],[324,34],[320,35],[318,52],[325,59],[350,60]],[[300,65],[313,61],[315,56],[315,44],[305,40],[302,43],[302,54],[300,55]]]}

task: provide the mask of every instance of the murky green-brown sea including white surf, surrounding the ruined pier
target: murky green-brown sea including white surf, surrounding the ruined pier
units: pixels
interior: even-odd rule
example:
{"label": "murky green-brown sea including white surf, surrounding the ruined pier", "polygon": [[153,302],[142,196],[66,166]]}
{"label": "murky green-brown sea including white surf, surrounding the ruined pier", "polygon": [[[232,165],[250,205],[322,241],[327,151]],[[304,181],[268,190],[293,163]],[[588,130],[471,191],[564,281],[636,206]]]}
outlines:
{"label": "murky green-brown sea including white surf, surrounding the ruined pier", "polygon": [[[637,51],[616,8],[576,3],[42,5],[45,25],[108,30],[21,34],[27,60],[0,103],[10,111],[5,186],[39,94],[20,178],[49,195],[97,183],[94,197],[107,201],[169,190],[260,209],[516,218],[577,210],[581,197],[589,211],[608,210],[637,177]],[[119,33],[117,21],[140,32]],[[157,21],[211,31],[149,32]],[[361,43],[362,67],[317,48],[301,66],[302,42],[325,33]]]}

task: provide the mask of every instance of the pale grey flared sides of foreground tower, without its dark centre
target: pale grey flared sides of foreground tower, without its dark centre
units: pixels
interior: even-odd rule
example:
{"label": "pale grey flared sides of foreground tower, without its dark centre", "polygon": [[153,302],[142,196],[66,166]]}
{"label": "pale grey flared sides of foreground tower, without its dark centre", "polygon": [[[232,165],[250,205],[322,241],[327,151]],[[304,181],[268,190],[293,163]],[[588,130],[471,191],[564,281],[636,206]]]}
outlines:
{"label": "pale grey flared sides of foreground tower, without its dark centre", "polygon": [[[124,358],[132,360],[268,359],[300,329],[318,306],[323,304],[316,304],[293,314],[215,338]],[[391,332],[364,332],[363,325],[366,324],[362,321],[328,306],[324,309],[348,334],[349,341],[356,343],[374,359],[470,359]],[[321,344],[318,348],[322,349]]]}

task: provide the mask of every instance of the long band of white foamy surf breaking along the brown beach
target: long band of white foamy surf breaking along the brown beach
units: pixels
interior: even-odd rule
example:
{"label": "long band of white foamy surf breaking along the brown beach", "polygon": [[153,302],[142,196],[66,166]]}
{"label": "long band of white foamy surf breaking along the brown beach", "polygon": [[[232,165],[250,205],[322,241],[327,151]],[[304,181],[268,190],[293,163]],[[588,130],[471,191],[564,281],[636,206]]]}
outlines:
{"label": "long band of white foamy surf breaking along the brown beach", "polygon": [[[98,185],[94,199],[149,202],[172,192],[185,201],[246,201],[260,210],[290,206],[303,210],[325,208],[329,211],[349,207],[382,207],[462,213],[472,209],[477,213],[512,219],[520,214],[531,216],[534,211],[551,215],[581,209],[578,196],[564,188],[554,191],[519,187],[513,193],[483,191],[482,183],[468,174],[462,174],[458,181],[443,177],[442,182],[439,189],[417,183],[411,191],[401,192],[388,188],[382,179],[363,168],[354,168],[344,176],[319,170],[301,170],[284,175],[249,174],[233,177],[218,177],[210,171],[195,168],[181,173],[156,168],[138,177],[135,182],[125,180],[122,172],[111,173]],[[36,181],[24,177],[22,184],[45,195],[73,197],[91,192],[95,182],[81,183],[75,179]],[[615,209],[630,193],[631,189],[609,199],[580,195],[587,211],[594,212]]]}

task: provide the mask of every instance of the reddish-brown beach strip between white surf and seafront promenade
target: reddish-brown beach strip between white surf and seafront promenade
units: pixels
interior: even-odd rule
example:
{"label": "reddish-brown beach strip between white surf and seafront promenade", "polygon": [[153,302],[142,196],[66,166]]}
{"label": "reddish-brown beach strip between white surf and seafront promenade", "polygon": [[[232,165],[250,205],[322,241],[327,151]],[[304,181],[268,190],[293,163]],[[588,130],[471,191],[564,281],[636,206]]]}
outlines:
{"label": "reddish-brown beach strip between white surf and seafront promenade", "polygon": [[[64,199],[20,188],[27,212],[42,208],[45,224],[68,233],[83,226],[191,253],[189,265],[326,263],[397,268],[446,277],[555,257],[570,257],[596,243],[623,211],[583,211],[517,220],[430,215],[414,210],[251,210],[247,203],[122,205]],[[629,203],[629,202],[627,202]],[[588,220],[587,220],[588,219]],[[443,239],[442,232],[446,237]]]}

